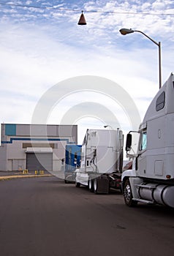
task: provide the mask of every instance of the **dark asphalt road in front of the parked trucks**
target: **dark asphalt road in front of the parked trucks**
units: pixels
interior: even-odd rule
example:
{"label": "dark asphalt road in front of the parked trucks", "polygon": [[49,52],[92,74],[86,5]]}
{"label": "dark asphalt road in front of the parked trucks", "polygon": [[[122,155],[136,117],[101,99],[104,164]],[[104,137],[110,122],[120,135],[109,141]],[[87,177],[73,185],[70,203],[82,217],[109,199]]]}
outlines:
{"label": "dark asphalt road in front of the parked trucks", "polygon": [[1,256],[173,255],[174,210],[56,177],[0,181]]}

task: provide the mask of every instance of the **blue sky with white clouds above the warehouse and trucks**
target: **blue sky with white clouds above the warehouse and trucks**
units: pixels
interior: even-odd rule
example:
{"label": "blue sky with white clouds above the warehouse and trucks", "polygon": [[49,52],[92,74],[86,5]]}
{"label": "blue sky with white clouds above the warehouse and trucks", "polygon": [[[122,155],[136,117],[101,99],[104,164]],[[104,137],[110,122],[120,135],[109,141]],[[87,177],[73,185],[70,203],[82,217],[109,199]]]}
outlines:
{"label": "blue sky with white clouds above the warehouse and trucks", "polygon": [[159,90],[159,48],[121,28],[162,43],[164,83],[173,0],[0,0],[1,124],[77,124],[79,144],[86,129],[137,129]]}

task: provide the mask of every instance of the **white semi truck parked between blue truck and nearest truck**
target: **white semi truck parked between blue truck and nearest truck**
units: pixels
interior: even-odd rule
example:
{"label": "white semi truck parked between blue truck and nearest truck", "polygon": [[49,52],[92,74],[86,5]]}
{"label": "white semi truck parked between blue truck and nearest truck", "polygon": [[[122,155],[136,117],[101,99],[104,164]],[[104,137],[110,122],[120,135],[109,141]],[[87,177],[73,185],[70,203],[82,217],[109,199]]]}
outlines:
{"label": "white semi truck parked between blue truck and nearest truck", "polygon": [[76,187],[107,194],[121,189],[123,133],[120,129],[87,129],[81,148],[80,168],[75,170]]}

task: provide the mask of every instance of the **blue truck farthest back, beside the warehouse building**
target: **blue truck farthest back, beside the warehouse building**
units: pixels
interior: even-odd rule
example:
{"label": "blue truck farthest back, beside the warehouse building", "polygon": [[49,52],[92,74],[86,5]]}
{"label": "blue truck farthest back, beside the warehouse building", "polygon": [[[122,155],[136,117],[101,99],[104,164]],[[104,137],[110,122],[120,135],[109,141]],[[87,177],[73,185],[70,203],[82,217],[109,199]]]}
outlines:
{"label": "blue truck farthest back, beside the warehouse building", "polygon": [[64,182],[75,183],[75,170],[80,167],[81,145],[70,144],[65,148]]}

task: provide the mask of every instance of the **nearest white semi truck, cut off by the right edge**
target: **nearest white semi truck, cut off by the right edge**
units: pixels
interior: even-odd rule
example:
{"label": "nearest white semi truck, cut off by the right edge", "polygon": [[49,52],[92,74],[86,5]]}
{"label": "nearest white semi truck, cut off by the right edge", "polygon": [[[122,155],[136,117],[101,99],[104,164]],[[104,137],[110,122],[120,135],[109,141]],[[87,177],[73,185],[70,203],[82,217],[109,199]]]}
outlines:
{"label": "nearest white semi truck, cut off by the right edge", "polygon": [[174,207],[174,75],[171,74],[148,107],[138,133],[137,154],[131,154],[133,132],[126,138],[132,170],[122,173],[127,206],[137,202]]}

